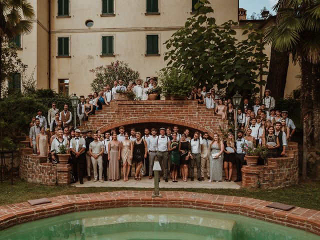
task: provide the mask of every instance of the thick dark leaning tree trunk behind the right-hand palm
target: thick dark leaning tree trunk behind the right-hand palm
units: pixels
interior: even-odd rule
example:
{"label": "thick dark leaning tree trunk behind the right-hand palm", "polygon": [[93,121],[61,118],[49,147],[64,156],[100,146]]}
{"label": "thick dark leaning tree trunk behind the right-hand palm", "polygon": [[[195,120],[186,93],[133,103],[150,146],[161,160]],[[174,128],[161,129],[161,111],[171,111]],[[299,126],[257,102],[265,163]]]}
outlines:
{"label": "thick dark leaning tree trunk behind the right-hand palm", "polygon": [[289,52],[278,52],[271,47],[269,73],[265,89],[270,89],[274,98],[284,96],[286,75],[289,66]]}

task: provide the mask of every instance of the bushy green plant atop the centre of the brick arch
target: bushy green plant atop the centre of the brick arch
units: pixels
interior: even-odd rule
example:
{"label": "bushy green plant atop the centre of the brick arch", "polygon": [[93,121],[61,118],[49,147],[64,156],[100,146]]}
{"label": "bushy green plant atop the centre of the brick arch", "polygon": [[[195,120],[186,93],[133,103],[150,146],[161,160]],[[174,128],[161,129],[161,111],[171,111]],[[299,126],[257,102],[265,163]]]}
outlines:
{"label": "bushy green plant atop the centre of the brick arch", "polygon": [[159,80],[163,94],[170,99],[186,99],[194,84],[190,71],[177,68],[163,68]]}

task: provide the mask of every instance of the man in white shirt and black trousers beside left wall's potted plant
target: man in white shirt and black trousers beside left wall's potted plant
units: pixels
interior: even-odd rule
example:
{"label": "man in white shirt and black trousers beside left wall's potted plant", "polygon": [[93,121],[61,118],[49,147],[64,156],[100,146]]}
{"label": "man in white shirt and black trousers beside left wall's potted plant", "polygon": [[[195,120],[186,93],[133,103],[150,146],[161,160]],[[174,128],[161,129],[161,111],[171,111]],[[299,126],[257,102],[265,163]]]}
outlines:
{"label": "man in white shirt and black trousers beside left wall's potted plant", "polygon": [[70,140],[70,153],[72,162],[72,172],[74,174],[75,181],[79,179],[80,184],[83,184],[85,140],[83,139],[83,137],[80,137],[80,133],[80,129],[75,129],[75,137],[73,137]]}

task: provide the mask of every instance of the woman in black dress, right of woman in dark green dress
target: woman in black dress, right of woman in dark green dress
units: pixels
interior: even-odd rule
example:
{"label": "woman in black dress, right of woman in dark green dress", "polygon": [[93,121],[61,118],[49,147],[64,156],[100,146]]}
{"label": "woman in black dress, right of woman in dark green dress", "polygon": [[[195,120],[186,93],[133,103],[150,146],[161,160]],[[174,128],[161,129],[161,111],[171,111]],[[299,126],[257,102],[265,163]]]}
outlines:
{"label": "woman in black dress, right of woman in dark green dress", "polygon": [[185,133],[181,134],[181,140],[179,142],[179,152],[180,152],[180,171],[182,174],[182,180],[186,181],[188,177],[188,163],[191,154],[190,142],[185,140]]}

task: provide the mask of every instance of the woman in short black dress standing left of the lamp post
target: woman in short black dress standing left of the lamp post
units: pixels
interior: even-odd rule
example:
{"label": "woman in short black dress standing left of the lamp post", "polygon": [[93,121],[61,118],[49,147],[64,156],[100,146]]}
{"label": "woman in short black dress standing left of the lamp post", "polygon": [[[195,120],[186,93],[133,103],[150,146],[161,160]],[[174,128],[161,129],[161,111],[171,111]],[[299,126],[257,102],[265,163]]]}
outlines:
{"label": "woman in short black dress standing left of the lamp post", "polygon": [[135,180],[141,180],[140,169],[143,161],[146,158],[147,145],[146,141],[141,138],[141,133],[137,131],[135,133],[135,140],[133,142],[132,160],[135,163]]}

